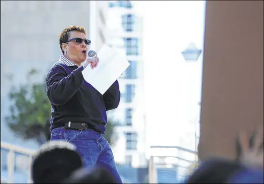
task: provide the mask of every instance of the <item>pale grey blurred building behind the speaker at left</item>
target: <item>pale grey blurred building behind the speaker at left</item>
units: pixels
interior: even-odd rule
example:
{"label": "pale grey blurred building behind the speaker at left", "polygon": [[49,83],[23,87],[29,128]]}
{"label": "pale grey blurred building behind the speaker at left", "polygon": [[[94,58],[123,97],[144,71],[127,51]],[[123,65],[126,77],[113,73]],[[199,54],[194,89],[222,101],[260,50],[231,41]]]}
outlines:
{"label": "pale grey blurred building behind the speaker at left", "polygon": [[[103,0],[1,1],[1,141],[38,148],[34,141],[16,138],[5,123],[10,87],[44,82],[52,64],[59,61],[59,34],[67,26],[83,26],[91,40],[89,49],[100,49],[106,40],[107,7]],[[27,81],[31,68],[39,72]]]}

